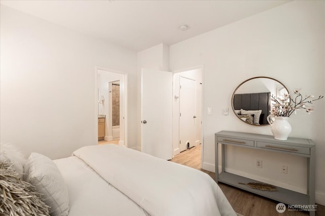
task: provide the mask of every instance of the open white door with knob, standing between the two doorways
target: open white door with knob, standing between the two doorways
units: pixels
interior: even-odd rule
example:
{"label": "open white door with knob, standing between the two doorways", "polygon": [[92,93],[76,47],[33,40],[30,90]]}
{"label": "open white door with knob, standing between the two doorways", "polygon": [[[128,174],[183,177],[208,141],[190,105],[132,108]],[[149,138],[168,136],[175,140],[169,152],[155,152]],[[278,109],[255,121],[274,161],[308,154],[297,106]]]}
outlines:
{"label": "open white door with knob, standing between the two doorways", "polygon": [[173,73],[142,69],[142,152],[172,159]]}

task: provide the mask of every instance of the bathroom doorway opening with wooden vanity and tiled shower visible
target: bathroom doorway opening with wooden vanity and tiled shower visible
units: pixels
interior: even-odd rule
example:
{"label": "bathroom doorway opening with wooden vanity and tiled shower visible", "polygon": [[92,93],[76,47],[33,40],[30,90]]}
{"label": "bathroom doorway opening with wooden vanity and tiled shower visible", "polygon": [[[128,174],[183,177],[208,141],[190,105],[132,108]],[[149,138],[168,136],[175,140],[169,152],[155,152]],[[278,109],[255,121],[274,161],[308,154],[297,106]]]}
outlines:
{"label": "bathroom doorway opening with wooden vanity and tiled shower visible", "polygon": [[[99,144],[126,146],[126,74],[112,69],[97,69],[98,119],[105,124]],[[105,119],[105,120],[103,120]],[[99,126],[99,129],[102,126]],[[99,131],[100,138],[100,131]]]}

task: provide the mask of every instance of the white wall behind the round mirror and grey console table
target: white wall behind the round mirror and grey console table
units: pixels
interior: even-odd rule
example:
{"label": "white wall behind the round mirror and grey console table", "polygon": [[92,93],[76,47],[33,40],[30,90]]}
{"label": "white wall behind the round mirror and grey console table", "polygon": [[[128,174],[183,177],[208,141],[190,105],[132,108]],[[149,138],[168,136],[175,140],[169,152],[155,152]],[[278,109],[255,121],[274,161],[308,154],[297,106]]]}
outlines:
{"label": "white wall behind the round mirror and grey console table", "polygon": [[[170,46],[170,68],[204,65],[203,167],[214,170],[214,133],[221,130],[271,134],[270,126],[252,126],[235,114],[222,115],[231,107],[237,85],[254,76],[270,76],[290,92],[324,95],[324,2],[294,1],[223,26]],[[291,137],[316,143],[316,202],[325,204],[324,100],[314,103],[311,115],[299,112],[290,118]],[[212,115],[207,115],[212,107]],[[263,151],[229,148],[229,171],[297,191],[306,191],[306,158],[274,155]],[[263,160],[263,169],[255,159]],[[281,164],[288,174],[280,174]],[[293,186],[290,186],[290,185]]]}

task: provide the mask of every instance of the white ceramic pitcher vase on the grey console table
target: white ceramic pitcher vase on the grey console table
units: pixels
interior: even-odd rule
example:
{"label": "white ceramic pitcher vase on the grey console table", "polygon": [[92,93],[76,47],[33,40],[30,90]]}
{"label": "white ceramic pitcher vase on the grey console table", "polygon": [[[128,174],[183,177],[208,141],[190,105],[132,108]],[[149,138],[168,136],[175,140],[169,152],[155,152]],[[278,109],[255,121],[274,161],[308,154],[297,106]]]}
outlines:
{"label": "white ceramic pitcher vase on the grey console table", "polygon": [[291,125],[288,122],[289,117],[273,117],[269,115],[267,119],[269,124],[271,125],[271,131],[274,136],[274,139],[287,140],[289,134],[291,133]]}

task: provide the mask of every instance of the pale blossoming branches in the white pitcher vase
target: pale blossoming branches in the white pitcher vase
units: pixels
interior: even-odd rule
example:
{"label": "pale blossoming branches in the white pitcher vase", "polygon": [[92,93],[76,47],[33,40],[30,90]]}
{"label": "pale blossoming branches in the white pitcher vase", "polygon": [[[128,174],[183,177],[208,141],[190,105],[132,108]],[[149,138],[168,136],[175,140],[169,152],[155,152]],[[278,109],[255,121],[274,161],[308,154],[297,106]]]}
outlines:
{"label": "pale blossoming branches in the white pitcher vase", "polygon": [[[304,109],[309,114],[314,112],[314,107],[307,106],[307,104],[312,104],[313,101],[317,101],[322,99],[324,96],[319,96],[317,99],[313,99],[313,95],[303,96],[300,93],[301,89],[295,89],[294,95],[296,97],[290,99],[289,94],[284,94],[282,98],[275,98],[273,95],[271,96],[271,100],[275,103],[271,109],[271,116],[282,116],[282,117],[289,117],[291,114],[296,112],[299,109]],[[292,103],[290,103],[290,100]]]}

